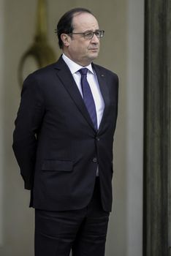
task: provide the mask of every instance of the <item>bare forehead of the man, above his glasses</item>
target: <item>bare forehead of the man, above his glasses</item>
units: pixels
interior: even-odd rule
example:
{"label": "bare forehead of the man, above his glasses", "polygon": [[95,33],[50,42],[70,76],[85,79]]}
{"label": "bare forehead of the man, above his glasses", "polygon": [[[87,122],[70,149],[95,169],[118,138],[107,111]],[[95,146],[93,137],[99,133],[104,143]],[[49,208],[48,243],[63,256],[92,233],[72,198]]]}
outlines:
{"label": "bare forehead of the man, above his glasses", "polygon": [[75,30],[96,30],[99,29],[99,24],[91,13],[83,12],[77,13],[72,19],[72,26]]}

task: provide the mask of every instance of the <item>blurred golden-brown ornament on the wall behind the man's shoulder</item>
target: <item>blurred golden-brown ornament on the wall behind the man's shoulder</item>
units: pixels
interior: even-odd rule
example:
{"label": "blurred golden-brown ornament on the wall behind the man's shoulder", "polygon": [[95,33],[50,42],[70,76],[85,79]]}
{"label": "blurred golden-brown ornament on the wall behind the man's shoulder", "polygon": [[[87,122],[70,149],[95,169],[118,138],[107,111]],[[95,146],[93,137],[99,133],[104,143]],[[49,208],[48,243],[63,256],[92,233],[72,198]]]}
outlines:
{"label": "blurred golden-brown ornament on the wall behind the man's shoulder", "polygon": [[20,86],[23,80],[36,69],[45,67],[56,61],[56,53],[47,42],[47,7],[45,0],[39,0],[37,6],[37,31],[31,47],[20,59],[18,80]]}

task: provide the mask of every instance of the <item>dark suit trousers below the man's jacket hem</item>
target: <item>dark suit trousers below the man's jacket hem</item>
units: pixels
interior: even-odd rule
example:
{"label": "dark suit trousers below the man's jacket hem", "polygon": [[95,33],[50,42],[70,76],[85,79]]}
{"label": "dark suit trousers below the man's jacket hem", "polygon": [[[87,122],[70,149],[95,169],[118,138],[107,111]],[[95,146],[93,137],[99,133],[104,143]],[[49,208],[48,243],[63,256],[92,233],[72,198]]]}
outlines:
{"label": "dark suit trousers below the man's jacket hem", "polygon": [[35,210],[35,256],[104,256],[109,212],[102,209],[99,178],[91,202],[73,211]]}

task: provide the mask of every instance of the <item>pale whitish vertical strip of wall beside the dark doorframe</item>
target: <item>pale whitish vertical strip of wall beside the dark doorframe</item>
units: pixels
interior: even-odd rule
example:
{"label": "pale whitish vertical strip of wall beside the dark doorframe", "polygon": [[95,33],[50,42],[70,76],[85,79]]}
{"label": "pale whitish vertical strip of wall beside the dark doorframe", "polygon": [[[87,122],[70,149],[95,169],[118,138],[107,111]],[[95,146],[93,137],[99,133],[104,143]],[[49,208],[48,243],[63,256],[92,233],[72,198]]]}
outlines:
{"label": "pale whitish vertical strip of wall beside the dark doorframe", "polygon": [[126,256],[142,255],[144,1],[128,1]]}

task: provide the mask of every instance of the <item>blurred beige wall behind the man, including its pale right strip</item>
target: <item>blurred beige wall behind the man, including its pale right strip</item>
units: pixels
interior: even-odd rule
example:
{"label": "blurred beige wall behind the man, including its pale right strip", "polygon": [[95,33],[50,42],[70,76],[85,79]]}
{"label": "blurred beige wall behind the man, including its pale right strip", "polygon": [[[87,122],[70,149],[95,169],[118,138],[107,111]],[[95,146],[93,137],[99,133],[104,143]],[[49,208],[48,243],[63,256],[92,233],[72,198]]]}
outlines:
{"label": "blurred beige wall behind the man, including its pale right strip", "polygon": [[[1,0],[2,4],[3,1]],[[0,120],[4,144],[0,148],[0,227],[3,217],[1,256],[34,255],[34,211],[23,190],[18,165],[12,153],[12,129],[20,100],[17,71],[23,52],[34,37],[37,2],[4,1],[0,5]],[[96,63],[118,73],[120,78],[118,125],[115,133],[115,175],[113,213],[107,235],[106,256],[142,255],[142,108],[143,108],[143,1],[141,0],[51,0],[47,1],[50,45],[56,49],[53,33],[58,18],[72,7],[87,7],[105,30]],[[2,14],[2,15],[1,15]],[[0,20],[0,21],[1,21]],[[4,53],[4,59],[3,58]],[[3,92],[4,91],[4,92]],[[3,164],[3,165],[2,165]],[[3,195],[3,200],[1,200]],[[3,202],[3,209],[1,209]],[[1,230],[1,228],[0,228]],[[1,231],[0,231],[1,232]],[[1,233],[0,233],[1,242]]]}

